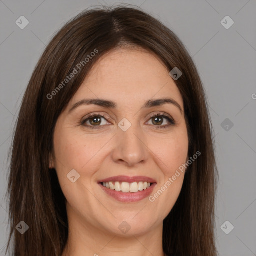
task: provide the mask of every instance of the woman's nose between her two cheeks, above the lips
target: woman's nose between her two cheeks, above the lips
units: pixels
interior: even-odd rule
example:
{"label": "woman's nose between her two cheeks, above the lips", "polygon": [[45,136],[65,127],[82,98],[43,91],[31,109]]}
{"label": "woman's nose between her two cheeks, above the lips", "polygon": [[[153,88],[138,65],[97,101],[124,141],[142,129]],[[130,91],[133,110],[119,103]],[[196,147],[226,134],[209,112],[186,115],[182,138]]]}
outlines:
{"label": "woman's nose between her two cheeks, above the lips", "polygon": [[112,152],[113,160],[129,167],[145,162],[148,158],[145,140],[146,138],[138,126],[131,125],[126,131],[118,129]]}

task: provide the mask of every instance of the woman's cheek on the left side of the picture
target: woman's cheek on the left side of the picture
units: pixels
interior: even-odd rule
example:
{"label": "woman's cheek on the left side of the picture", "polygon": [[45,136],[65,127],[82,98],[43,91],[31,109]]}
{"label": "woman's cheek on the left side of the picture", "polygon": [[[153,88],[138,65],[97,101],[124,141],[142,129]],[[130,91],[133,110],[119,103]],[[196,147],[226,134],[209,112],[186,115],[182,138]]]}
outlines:
{"label": "woman's cheek on the left side of the picture", "polygon": [[[104,139],[96,137],[85,137],[79,131],[72,131],[68,128],[62,129],[54,135],[54,151],[55,151],[55,168],[61,189],[73,208],[77,205],[82,211],[81,195],[86,195],[89,205],[93,205],[94,196],[84,188],[83,184],[90,187],[90,181],[93,174],[99,168],[100,161],[95,161],[95,158],[101,147],[106,143]],[[69,173],[74,173],[72,176],[78,177],[76,172],[80,175],[78,181],[72,183],[68,179]],[[76,176],[77,175],[77,176]],[[88,205],[86,206],[88,208]]]}

